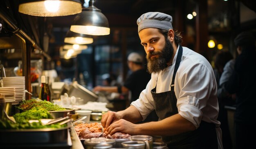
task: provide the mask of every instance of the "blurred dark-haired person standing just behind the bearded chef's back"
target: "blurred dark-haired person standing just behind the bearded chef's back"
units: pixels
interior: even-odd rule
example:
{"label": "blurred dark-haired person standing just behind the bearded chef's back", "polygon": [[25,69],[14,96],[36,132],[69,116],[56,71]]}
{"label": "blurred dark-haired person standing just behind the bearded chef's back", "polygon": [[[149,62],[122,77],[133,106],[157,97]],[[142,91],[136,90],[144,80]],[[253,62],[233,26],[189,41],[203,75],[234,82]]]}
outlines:
{"label": "blurred dark-haired person standing just behind the bearded chef's back", "polygon": [[230,103],[233,100],[231,99],[231,96],[229,94],[226,93],[226,95],[224,95],[225,90],[223,89],[223,86],[220,85],[220,79],[224,77],[222,75],[226,75],[226,72],[224,73],[225,65],[227,64],[228,61],[232,59],[233,56],[229,51],[219,51],[216,54],[214,60],[215,69],[213,69],[218,85],[217,97],[220,109],[217,120],[221,123],[220,128],[222,130],[222,144],[224,149],[232,149],[232,141],[229,131],[227,110],[225,109],[225,105],[230,105]]}

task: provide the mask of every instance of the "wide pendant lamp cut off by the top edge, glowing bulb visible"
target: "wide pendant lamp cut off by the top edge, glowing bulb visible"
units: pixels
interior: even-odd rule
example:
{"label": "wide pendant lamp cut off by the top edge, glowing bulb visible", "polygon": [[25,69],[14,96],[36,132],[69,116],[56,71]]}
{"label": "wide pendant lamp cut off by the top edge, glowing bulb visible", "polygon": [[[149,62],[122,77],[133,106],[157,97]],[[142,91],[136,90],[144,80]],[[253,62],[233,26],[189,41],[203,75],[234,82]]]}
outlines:
{"label": "wide pendant lamp cut off by the top edge, glowing bulb visible", "polygon": [[41,17],[55,17],[81,13],[80,0],[20,0],[19,12]]}

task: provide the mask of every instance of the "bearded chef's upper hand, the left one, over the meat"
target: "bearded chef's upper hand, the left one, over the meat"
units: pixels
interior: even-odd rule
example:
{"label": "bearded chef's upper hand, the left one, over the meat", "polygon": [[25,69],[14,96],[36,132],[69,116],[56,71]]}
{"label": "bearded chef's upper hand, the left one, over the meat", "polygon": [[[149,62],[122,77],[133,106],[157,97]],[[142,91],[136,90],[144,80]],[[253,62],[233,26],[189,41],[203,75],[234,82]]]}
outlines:
{"label": "bearded chef's upper hand, the left one, over the meat", "polygon": [[103,128],[108,128],[111,123],[121,119],[121,115],[117,112],[108,111],[106,114],[102,115],[101,125]]}

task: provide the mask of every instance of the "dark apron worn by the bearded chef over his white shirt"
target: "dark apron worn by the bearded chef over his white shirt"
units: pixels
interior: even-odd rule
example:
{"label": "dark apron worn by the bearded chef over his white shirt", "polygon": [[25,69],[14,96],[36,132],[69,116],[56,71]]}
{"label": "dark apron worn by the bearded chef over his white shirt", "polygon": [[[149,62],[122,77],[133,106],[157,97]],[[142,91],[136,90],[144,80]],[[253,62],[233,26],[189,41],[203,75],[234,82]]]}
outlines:
{"label": "dark apron worn by the bearded chef over his white shirt", "polygon": [[[182,46],[178,50],[171,90],[156,93],[156,86],[151,90],[159,121],[178,113],[177,98],[174,92],[174,80],[180,66],[181,58]],[[170,149],[218,149],[215,125],[205,121],[201,121],[200,127],[194,131],[188,131],[175,136],[162,136],[162,140]]]}

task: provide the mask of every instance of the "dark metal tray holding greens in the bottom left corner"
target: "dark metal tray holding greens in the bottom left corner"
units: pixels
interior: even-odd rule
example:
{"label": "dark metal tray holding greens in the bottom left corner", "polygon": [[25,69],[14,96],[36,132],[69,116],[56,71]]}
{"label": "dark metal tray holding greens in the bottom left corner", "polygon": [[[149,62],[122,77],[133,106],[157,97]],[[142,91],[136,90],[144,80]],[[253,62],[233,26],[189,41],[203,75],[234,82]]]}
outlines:
{"label": "dark metal tray holding greens in the bottom left corner", "polygon": [[0,144],[56,144],[67,143],[68,128],[6,129],[0,130]]}

